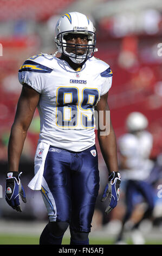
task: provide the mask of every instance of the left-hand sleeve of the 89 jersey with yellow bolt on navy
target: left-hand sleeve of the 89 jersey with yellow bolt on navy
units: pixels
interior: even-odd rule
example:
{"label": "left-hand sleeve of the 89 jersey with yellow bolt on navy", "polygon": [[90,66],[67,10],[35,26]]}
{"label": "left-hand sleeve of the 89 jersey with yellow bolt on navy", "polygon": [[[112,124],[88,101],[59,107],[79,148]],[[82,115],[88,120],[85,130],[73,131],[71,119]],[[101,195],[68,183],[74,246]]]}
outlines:
{"label": "left-hand sleeve of the 89 jersey with yellow bolt on navy", "polygon": [[18,80],[23,84],[28,84],[38,93],[43,92],[44,84],[47,81],[47,74],[53,71],[52,69],[32,60],[26,60],[18,70]]}

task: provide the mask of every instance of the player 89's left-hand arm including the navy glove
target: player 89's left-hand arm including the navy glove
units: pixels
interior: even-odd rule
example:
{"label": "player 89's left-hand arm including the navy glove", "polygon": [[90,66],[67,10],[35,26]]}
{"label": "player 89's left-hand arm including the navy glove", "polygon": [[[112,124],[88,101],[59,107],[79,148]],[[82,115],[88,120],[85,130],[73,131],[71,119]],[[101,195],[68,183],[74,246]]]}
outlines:
{"label": "player 89's left-hand arm including the navy glove", "polygon": [[18,170],[20,157],[27,131],[39,99],[40,94],[29,86],[24,85],[18,100],[14,124],[11,127],[8,145],[8,172],[5,199],[7,203],[18,212],[22,212],[20,196],[24,203],[27,202],[25,191],[20,180],[22,172]]}

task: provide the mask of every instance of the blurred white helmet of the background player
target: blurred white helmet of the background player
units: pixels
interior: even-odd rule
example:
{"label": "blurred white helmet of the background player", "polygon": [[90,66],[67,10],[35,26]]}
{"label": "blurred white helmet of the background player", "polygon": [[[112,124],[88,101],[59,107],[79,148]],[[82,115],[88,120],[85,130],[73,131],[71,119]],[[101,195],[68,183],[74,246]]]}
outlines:
{"label": "blurred white helmet of the background player", "polygon": [[140,112],[132,112],[126,119],[126,127],[129,132],[145,130],[148,126],[148,120]]}

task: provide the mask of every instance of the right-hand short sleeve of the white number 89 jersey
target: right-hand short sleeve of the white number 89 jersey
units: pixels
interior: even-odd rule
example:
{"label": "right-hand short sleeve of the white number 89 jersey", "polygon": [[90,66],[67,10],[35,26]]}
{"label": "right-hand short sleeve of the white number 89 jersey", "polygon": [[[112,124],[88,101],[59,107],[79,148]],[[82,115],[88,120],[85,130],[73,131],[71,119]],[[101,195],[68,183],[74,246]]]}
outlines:
{"label": "right-hand short sleeve of the white number 89 jersey", "polygon": [[107,68],[100,73],[101,76],[101,96],[109,91],[112,86],[113,72],[111,68]]}

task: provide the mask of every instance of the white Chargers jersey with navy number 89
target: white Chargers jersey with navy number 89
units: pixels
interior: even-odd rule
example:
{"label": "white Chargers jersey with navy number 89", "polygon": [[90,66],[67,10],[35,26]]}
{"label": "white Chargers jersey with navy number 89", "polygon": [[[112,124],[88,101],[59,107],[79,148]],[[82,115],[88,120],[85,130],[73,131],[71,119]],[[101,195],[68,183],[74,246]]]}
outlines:
{"label": "white Chargers jersey with navy number 89", "polygon": [[95,144],[94,106],[112,86],[108,64],[92,57],[75,71],[65,60],[38,54],[24,62],[18,78],[41,94],[39,142],[72,151]]}

